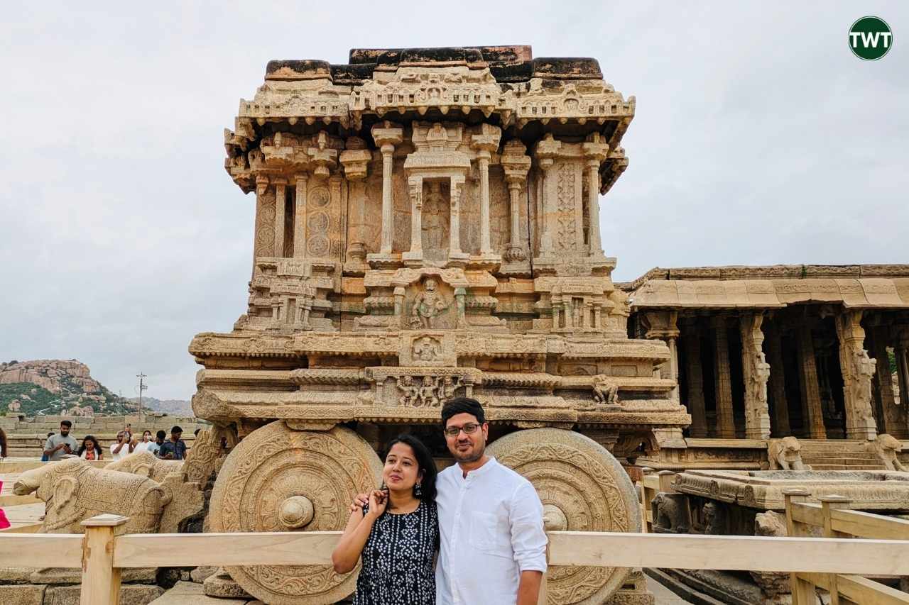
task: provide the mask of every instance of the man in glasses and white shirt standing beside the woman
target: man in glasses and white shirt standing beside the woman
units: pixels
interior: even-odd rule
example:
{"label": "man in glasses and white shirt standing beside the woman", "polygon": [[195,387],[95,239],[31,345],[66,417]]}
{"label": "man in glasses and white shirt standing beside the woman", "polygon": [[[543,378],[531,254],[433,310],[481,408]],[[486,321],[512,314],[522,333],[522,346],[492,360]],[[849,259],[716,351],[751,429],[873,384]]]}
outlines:
{"label": "man in glasses and white shirt standing beside the woman", "polygon": [[[546,570],[543,504],[533,484],[485,453],[489,425],[480,402],[442,408],[457,464],[439,473],[438,605],[535,605]],[[365,494],[357,496],[361,506]]]}

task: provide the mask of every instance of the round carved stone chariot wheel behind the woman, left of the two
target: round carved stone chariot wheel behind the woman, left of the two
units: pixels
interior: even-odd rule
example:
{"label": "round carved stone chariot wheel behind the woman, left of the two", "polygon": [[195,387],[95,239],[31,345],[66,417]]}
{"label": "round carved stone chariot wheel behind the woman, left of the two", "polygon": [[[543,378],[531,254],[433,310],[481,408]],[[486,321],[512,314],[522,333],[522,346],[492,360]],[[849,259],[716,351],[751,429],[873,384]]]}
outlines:
{"label": "round carved stone chariot wheel behind the woman, left of the two", "polygon": [[[354,431],[294,431],[276,421],[240,441],[218,473],[209,506],[212,531],[340,531],[357,493],[375,489],[382,464]],[[350,595],[357,567],[225,568],[256,599],[271,605],[323,605]]]}

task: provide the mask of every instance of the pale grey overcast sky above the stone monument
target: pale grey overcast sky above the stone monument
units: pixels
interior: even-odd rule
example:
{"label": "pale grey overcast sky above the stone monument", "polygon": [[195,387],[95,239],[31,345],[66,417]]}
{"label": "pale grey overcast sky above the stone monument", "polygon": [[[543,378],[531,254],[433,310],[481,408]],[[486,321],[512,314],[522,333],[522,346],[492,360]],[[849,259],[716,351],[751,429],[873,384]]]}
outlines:
{"label": "pale grey overcast sky above the stone monument", "polygon": [[[848,30],[884,18],[876,62]],[[601,198],[615,281],[654,266],[909,263],[909,3],[15,3],[0,22],[0,361],[189,399],[245,312],[255,196],[223,129],[270,59],[526,44],[637,99]]]}

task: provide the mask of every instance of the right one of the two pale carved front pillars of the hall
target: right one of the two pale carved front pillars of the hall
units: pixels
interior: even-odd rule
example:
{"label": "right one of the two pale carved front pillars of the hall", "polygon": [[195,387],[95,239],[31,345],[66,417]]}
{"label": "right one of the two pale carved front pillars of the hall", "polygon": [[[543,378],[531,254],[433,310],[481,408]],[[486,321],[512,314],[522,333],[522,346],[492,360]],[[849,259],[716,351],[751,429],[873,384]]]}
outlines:
{"label": "right one of the two pale carved front pillars of the hall", "polygon": [[873,440],[877,436],[871,405],[871,380],[875,362],[864,350],[862,312],[847,310],[836,316],[840,343],[843,398],[846,408],[846,438]]}

